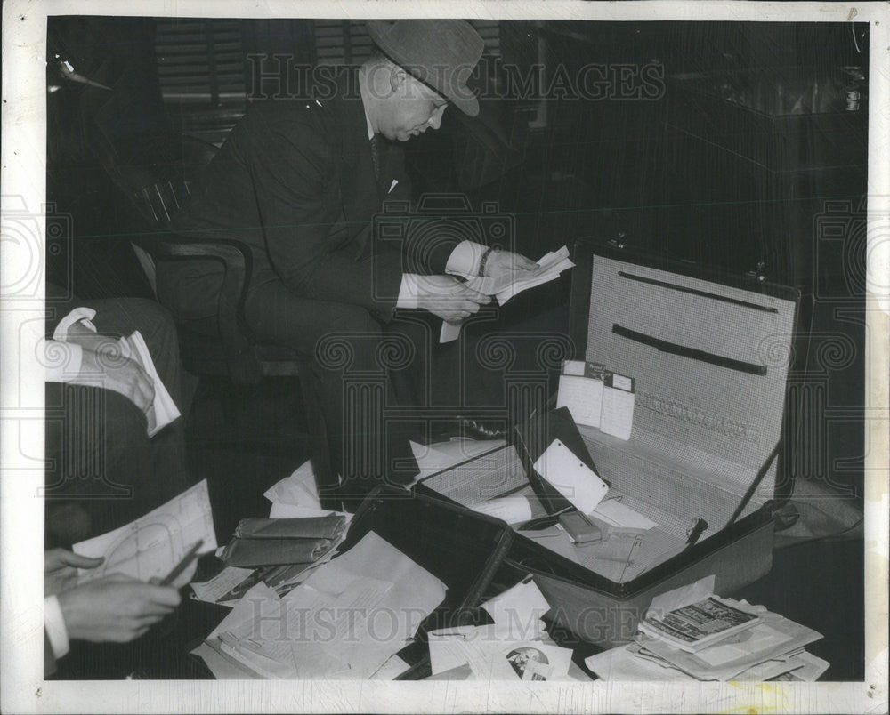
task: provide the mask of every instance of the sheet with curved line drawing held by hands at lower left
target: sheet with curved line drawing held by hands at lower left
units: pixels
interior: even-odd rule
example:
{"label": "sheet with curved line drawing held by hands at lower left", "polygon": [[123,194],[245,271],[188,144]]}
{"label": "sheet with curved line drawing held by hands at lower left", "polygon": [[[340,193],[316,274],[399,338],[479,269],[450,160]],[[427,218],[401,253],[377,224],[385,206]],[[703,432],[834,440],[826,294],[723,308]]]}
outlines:
{"label": "sheet with curved line drawing held by hands at lower left", "polygon": [[[163,579],[201,539],[201,553],[216,548],[206,479],[126,526],[76,543],[75,553],[105,559],[98,568],[79,569],[78,581],[93,581],[110,574],[125,574],[140,581]],[[172,585],[184,586],[196,567],[197,562],[192,562]]]}

